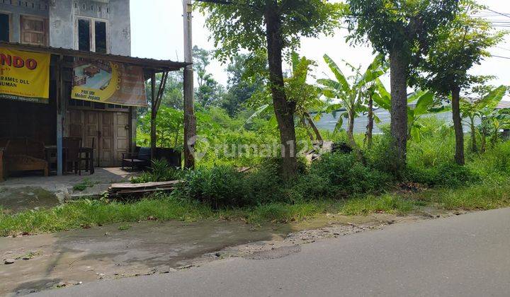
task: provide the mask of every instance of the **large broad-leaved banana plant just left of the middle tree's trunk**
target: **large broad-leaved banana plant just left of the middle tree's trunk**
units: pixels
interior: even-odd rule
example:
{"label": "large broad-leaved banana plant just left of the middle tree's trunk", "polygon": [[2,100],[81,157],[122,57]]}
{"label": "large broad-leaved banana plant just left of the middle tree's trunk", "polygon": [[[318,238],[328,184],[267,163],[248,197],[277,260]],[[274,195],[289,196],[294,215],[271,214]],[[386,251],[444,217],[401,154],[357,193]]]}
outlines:
{"label": "large broad-leaved banana plant just left of the middle tree's trunk", "polygon": [[344,109],[345,112],[342,112],[338,122],[336,122],[335,129],[340,129],[344,123],[344,118],[346,118],[348,120],[347,135],[353,147],[356,147],[353,135],[354,119],[360,112],[365,110],[365,107],[363,107],[363,103],[365,103],[365,91],[372,86],[371,83],[373,81],[386,72],[386,69],[382,64],[383,58],[384,57],[382,55],[375,57],[374,61],[370,63],[370,66],[368,66],[363,74],[359,68],[356,69],[346,62],[346,65],[351,67],[354,72],[353,76],[347,77],[333,59],[331,59],[331,57],[327,54],[324,54],[324,61],[328,64],[329,69],[334,74],[335,80],[319,79],[317,80],[317,83],[322,86],[322,94],[324,96],[329,99],[340,100],[340,103],[328,105],[319,112],[318,115],[320,116],[322,113],[331,113],[335,110]]}

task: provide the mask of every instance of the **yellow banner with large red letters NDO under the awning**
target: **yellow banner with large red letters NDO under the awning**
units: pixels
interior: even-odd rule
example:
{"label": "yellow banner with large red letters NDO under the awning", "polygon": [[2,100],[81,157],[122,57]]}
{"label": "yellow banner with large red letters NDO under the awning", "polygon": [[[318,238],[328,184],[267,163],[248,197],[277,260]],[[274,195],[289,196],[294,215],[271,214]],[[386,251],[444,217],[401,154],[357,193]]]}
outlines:
{"label": "yellow banner with large red letters NDO under the awning", "polygon": [[0,47],[0,98],[48,103],[50,54]]}

